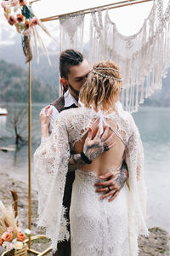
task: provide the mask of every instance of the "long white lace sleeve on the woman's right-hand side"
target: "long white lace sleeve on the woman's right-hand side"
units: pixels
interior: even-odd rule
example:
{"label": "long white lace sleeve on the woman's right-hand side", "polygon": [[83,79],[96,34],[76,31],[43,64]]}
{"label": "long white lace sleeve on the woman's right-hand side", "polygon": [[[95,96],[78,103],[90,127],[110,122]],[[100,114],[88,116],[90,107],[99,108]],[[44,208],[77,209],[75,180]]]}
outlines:
{"label": "long white lace sleeve on the woman's right-hand side", "polygon": [[[144,184],[144,148],[137,126],[130,119],[131,136],[125,148],[125,160],[129,172],[127,180],[129,186],[130,222],[136,227],[136,234],[148,235],[145,224],[146,216],[146,188]],[[137,218],[135,218],[137,217]],[[136,219],[136,221],[135,221]]]}

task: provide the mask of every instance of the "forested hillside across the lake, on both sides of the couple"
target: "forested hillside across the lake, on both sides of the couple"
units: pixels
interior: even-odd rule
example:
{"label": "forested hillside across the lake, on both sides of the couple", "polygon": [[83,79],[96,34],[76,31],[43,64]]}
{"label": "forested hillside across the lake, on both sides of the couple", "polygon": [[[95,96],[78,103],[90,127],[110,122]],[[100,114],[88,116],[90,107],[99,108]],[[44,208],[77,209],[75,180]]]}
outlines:
{"label": "forested hillside across the lake, on both sides of the couple", "polygon": [[[41,71],[41,67],[39,70]],[[42,68],[43,72],[44,67]],[[39,73],[39,77],[42,78],[41,73]],[[46,74],[46,79],[32,77],[32,102],[53,102],[58,97],[57,84],[54,86],[50,77],[50,73]],[[49,84],[44,80],[49,80]],[[168,72],[167,78],[163,79],[162,84],[161,90],[156,90],[153,95],[144,100],[144,106],[170,107],[170,72]],[[27,101],[28,73],[26,70],[15,64],[0,61],[0,102]]]}

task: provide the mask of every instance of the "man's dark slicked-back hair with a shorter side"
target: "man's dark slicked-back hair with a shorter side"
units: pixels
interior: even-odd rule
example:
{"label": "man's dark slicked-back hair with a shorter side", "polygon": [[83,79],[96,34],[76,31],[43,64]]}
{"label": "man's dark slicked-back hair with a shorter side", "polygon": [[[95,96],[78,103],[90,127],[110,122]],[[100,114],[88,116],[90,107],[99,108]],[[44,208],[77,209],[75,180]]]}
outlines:
{"label": "man's dark slicked-back hair with a shorter side", "polygon": [[65,49],[59,56],[59,73],[60,77],[67,79],[72,66],[82,63],[84,57],[76,49]]}

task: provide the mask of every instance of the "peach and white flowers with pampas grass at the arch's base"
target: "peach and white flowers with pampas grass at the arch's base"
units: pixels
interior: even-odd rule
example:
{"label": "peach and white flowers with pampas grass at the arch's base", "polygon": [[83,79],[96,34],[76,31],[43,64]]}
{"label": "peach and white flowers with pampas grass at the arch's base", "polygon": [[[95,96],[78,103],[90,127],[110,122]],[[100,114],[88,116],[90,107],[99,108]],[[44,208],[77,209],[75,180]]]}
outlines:
{"label": "peach and white flowers with pampas grass at the arch's base", "polygon": [[18,224],[18,217],[14,216],[12,206],[5,207],[0,201],[0,246],[8,251],[8,256],[26,256],[27,247],[24,241],[30,236],[31,231],[23,233]]}

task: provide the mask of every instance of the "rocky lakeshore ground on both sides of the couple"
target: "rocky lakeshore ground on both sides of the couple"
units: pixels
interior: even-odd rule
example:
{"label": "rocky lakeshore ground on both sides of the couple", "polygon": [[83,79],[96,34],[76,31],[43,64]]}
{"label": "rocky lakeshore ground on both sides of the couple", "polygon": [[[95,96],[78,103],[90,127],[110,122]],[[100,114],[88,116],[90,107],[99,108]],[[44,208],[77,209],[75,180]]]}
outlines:
{"label": "rocky lakeshore ground on both sides of the couple", "polygon": [[[28,188],[27,184],[16,181],[8,177],[5,173],[0,173],[0,199],[5,205],[12,202],[11,190],[15,190],[19,197],[19,218],[20,227],[22,230],[27,228],[28,223]],[[37,228],[37,192],[31,191],[31,234],[40,235],[44,234],[44,230]],[[31,248],[37,251],[43,251],[47,247],[50,247],[50,242],[47,239],[38,239],[31,242]],[[139,256],[170,256],[170,237],[165,230],[161,230],[158,227],[150,229],[150,236],[148,238],[139,238]],[[0,247],[0,255],[4,252]],[[33,255],[28,253],[28,255]],[[52,252],[46,255],[52,256]]]}

